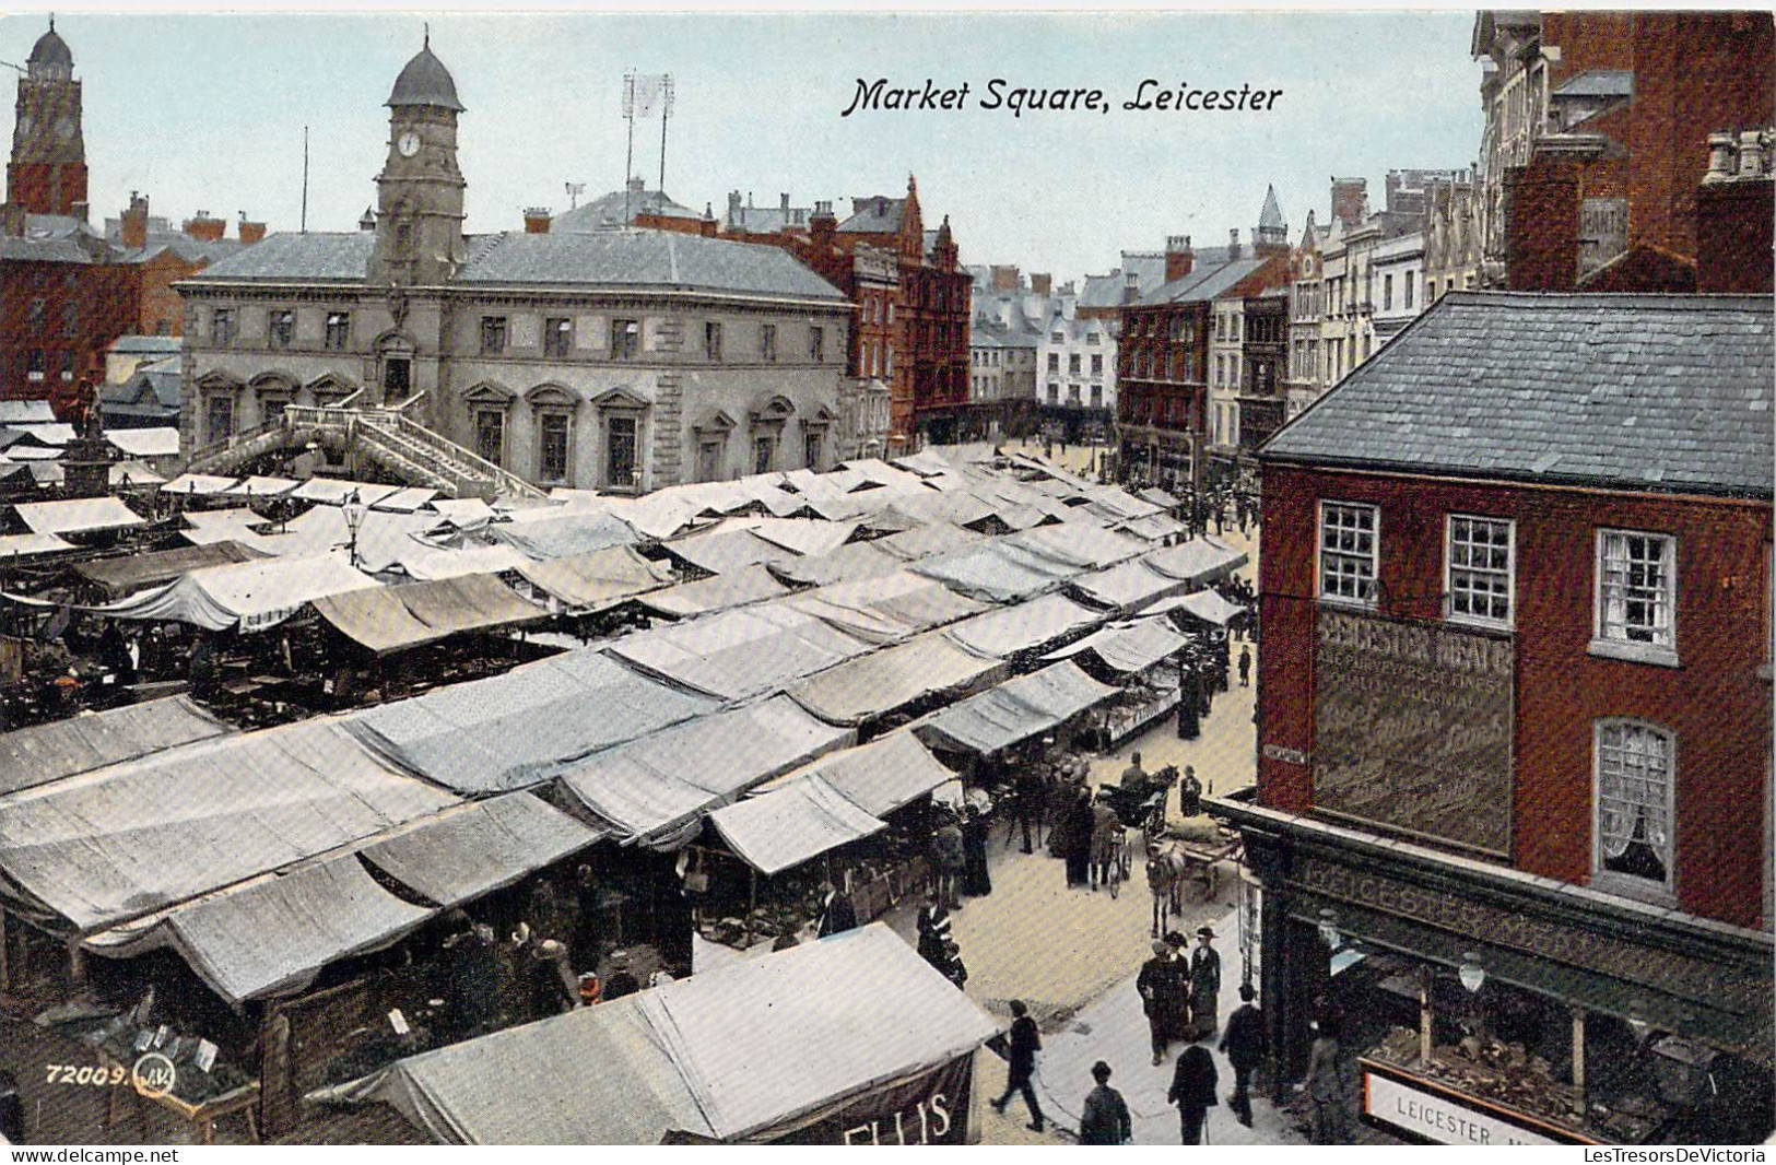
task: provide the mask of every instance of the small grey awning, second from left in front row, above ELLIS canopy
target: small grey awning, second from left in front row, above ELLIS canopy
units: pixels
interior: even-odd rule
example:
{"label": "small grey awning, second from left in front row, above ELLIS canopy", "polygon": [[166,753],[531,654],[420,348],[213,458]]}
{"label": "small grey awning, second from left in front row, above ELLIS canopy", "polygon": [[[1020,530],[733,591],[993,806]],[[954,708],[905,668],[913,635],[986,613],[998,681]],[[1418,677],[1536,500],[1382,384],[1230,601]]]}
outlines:
{"label": "small grey awning, second from left in front row, above ELLIS canopy", "polygon": [[527,792],[448,808],[371,842],[364,861],[439,906],[522,881],[604,836]]}

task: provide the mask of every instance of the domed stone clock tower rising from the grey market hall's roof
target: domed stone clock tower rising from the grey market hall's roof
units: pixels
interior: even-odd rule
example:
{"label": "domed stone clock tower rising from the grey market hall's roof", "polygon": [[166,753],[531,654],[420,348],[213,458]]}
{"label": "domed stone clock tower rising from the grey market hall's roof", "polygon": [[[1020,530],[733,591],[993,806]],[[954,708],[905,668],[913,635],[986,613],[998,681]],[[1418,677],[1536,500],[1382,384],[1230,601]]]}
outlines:
{"label": "domed stone clock tower rising from the grey market hall's roof", "polygon": [[432,55],[426,37],[389,94],[389,158],[377,176],[377,249],[369,281],[382,286],[439,286],[467,258],[456,169],[456,82]]}

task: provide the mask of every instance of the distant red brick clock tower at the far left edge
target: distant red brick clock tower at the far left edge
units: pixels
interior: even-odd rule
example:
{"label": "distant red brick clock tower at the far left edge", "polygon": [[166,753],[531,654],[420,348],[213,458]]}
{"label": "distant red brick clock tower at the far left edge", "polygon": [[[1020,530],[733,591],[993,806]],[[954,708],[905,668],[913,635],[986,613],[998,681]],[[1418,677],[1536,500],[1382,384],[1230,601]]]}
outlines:
{"label": "distant red brick clock tower at the far left edge", "polygon": [[37,37],[18,78],[7,202],[30,215],[87,217],[87,147],[80,135],[80,82],[67,41]]}

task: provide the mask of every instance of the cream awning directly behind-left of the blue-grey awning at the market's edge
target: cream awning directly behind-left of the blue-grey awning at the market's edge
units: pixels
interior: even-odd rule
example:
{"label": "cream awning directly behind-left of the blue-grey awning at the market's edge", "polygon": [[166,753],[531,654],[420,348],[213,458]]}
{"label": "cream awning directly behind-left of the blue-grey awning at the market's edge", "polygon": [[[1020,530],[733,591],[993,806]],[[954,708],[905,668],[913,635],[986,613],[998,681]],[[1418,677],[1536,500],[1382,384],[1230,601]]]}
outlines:
{"label": "cream awning directly behind-left of the blue-grey awning at the market's edge", "polygon": [[925,632],[790,684],[789,696],[833,725],[860,725],[948,691],[977,691],[1005,677],[1005,664]]}

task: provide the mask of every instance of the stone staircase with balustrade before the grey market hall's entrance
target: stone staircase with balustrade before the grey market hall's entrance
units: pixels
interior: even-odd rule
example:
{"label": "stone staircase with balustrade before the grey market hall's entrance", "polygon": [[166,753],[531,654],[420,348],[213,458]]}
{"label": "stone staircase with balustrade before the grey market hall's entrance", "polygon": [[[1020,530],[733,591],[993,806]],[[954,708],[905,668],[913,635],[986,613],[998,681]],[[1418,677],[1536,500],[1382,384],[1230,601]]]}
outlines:
{"label": "stone staircase with balustrade before the grey market hall's entrance", "polygon": [[529,481],[439,437],[403,410],[286,405],[277,421],[197,449],[188,472],[227,474],[266,453],[297,451],[313,440],[345,446],[398,479],[449,497],[547,497]]}

